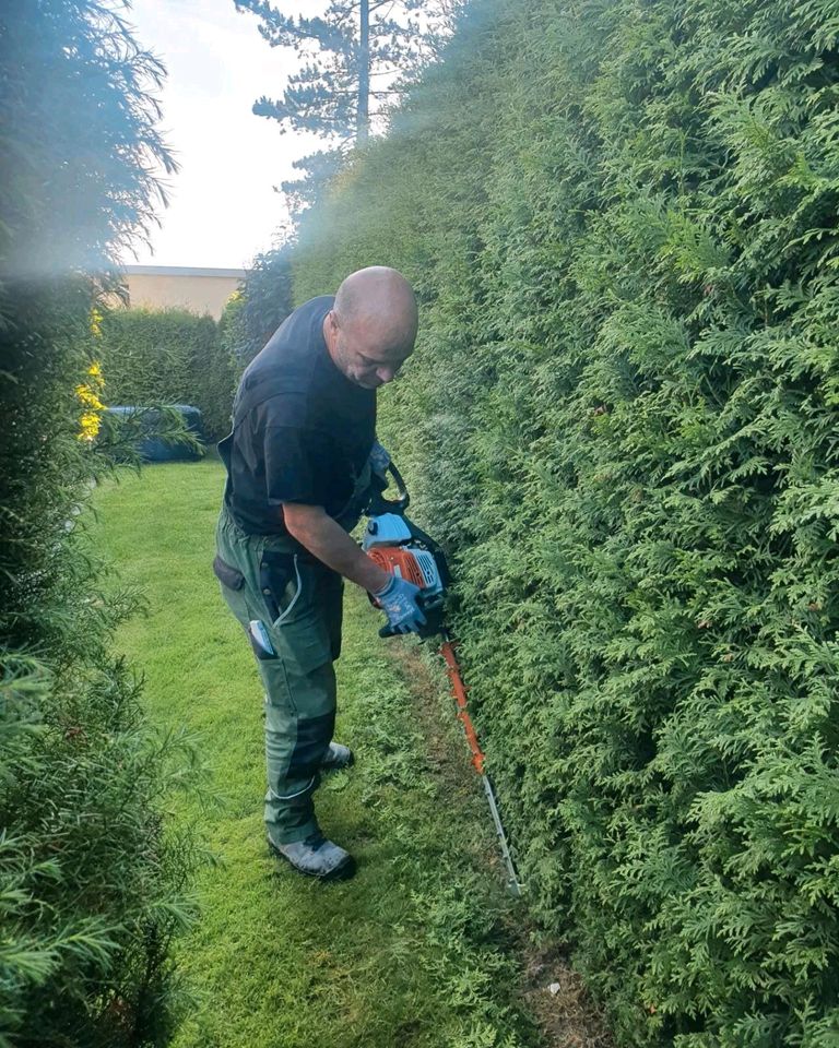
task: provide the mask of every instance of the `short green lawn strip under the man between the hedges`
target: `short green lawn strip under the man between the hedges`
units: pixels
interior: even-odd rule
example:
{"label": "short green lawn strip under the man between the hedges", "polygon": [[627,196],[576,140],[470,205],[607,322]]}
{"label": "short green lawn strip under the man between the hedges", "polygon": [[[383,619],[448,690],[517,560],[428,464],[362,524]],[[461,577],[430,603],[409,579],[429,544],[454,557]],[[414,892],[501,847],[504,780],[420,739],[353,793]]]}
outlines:
{"label": "short green lawn strip under the man between the hedges", "polygon": [[380,641],[380,616],[353,586],[336,738],[357,763],[321,787],[319,817],[358,873],[320,884],[269,857],[261,692],[210,567],[222,487],[208,460],[126,473],[95,498],[94,537],[149,603],[117,646],[145,675],[150,719],[199,735],[215,797],[172,801],[218,860],[201,873],[202,918],[178,950],[196,1007],[174,1044],[542,1044],[523,1007],[520,904],[504,892],[445,678],[414,640]]}

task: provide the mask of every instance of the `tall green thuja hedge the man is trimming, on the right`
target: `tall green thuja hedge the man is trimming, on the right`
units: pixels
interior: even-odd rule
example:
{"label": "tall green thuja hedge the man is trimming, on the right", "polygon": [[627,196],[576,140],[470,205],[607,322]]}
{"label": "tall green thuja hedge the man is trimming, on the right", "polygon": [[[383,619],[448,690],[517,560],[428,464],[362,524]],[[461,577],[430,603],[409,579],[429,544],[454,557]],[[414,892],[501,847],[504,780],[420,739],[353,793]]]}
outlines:
{"label": "tall green thuja hedge the man is trimming, on the right", "polygon": [[381,431],[453,556],[528,901],[624,1044],[837,1044],[839,16],[474,4],[308,215],[422,303]]}

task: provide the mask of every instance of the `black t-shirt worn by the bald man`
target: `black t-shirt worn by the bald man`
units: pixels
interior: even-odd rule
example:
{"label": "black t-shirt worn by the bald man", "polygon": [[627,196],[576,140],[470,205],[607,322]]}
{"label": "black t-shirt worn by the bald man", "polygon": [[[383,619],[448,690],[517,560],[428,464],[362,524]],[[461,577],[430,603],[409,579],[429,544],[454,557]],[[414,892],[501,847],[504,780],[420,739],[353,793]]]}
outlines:
{"label": "black t-shirt worn by the bald man", "polygon": [[346,510],[376,439],[376,391],[338,370],[323,338],[334,298],[300,306],[248,365],[218,445],[225,502],[251,535],[285,533],[283,502]]}

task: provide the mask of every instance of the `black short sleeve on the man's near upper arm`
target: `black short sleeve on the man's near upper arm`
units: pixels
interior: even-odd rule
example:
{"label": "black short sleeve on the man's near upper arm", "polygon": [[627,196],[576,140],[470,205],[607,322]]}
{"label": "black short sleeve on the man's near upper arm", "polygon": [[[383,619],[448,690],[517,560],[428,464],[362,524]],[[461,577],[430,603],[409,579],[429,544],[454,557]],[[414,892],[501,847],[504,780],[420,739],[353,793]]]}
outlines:
{"label": "black short sleeve on the man's near upper arm", "polygon": [[329,501],[331,442],[327,433],[296,426],[264,430],[265,495],[269,505]]}

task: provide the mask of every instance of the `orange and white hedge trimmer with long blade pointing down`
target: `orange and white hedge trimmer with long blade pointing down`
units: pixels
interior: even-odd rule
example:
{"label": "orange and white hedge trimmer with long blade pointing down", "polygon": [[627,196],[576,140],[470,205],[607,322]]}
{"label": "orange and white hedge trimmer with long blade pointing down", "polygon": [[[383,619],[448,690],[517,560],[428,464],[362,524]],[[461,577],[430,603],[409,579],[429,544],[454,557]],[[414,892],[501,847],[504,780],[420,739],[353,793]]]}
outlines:
{"label": "orange and white hedge trimmer with long blade pointing down", "polygon": [[[426,622],[420,629],[418,635],[423,640],[432,636],[441,639],[440,654],[446,662],[446,671],[458,707],[458,718],[463,725],[466,742],[472,753],[472,766],[481,776],[481,783],[489,802],[489,811],[493,814],[495,831],[498,835],[501,857],[507,868],[507,886],[513,895],[520,895],[522,885],[510,855],[510,847],[501,824],[493,784],[489,782],[489,776],[484,767],[486,758],[469,715],[466,688],[454,655],[456,642],[452,641],[445,626],[446,591],[451,583],[446,556],[437,543],[405,515],[405,510],[411,500],[404,480],[392,462],[388,469],[397,484],[398,498],[395,500],[386,499],[383,488],[382,491],[374,496],[367,510],[369,521],[362,539],[362,548],[385,571],[412,582],[415,586],[420,586],[422,591],[418,603]],[[387,484],[387,481],[383,483]],[[370,599],[376,604],[373,597]],[[392,636],[393,631],[386,626],[379,630],[379,635]]]}

